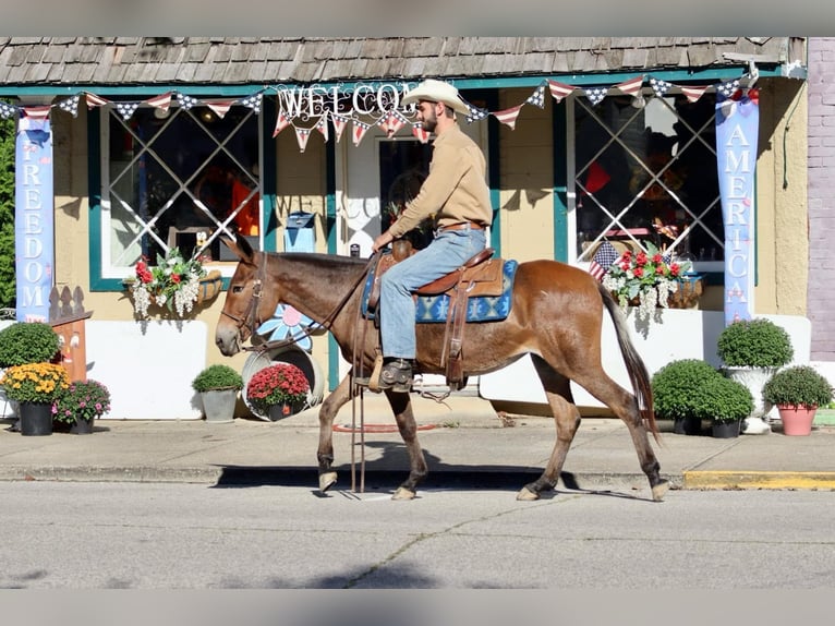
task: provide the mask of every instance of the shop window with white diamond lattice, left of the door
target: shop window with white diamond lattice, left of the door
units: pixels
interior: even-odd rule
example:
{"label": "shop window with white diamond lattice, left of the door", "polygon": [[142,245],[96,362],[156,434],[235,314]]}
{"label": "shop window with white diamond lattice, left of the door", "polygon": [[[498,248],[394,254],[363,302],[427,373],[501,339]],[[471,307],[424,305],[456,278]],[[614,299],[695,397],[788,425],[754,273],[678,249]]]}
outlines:
{"label": "shop window with white diamond lattice, left of the door", "polygon": [[[257,117],[232,107],[106,115],[102,133],[102,277],[128,276],[173,246],[204,262],[231,260],[221,234],[256,246],[261,225]],[[231,273],[232,267],[222,268]]]}

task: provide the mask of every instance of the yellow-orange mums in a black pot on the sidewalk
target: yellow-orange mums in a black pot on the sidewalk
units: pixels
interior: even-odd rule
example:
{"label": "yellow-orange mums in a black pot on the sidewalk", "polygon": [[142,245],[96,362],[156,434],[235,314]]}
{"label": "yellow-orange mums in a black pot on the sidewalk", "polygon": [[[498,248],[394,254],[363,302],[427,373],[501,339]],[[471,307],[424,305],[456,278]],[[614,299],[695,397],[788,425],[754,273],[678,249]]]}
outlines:
{"label": "yellow-orange mums in a black pot on the sidewalk", "polygon": [[21,434],[52,434],[52,402],[70,386],[66,370],[56,363],[12,365],[0,386],[19,405]]}

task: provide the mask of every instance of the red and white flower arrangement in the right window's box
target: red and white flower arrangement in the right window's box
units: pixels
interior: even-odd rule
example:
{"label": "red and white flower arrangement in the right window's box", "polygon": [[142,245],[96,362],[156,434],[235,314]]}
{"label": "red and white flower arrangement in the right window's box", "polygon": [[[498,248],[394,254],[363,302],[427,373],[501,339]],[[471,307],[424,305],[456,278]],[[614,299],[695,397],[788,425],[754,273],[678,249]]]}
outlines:
{"label": "red and white flower arrangement in the right window's box", "polygon": [[646,252],[624,252],[606,272],[603,286],[625,311],[629,304],[637,304],[638,320],[645,322],[658,308],[669,305],[670,294],[681,289],[688,269],[689,262],[668,263],[658,249],[648,242]]}

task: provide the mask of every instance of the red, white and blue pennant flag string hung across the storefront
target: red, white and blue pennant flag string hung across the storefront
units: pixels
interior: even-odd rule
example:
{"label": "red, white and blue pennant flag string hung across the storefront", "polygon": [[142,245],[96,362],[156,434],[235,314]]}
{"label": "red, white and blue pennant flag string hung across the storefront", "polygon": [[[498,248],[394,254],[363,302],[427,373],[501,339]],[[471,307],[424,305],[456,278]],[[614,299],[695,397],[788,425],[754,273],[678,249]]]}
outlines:
{"label": "red, white and blue pennant flag string hung across the storefront", "polygon": [[[639,74],[633,79],[629,79],[628,81],[624,81],[621,83],[609,86],[578,87],[553,81],[550,79],[545,79],[534,88],[533,93],[528,96],[528,98],[525,98],[522,103],[507,109],[491,111],[488,109],[480,108],[465,101],[467,108],[469,109],[469,112],[465,116],[465,120],[468,123],[473,123],[483,120],[488,116],[493,116],[499,122],[509,127],[510,130],[516,130],[517,119],[524,106],[532,105],[541,109],[545,108],[546,91],[550,94],[557,104],[559,104],[562,99],[571,96],[572,94],[579,92],[581,95],[584,95],[593,106],[596,106],[613,92],[616,95],[619,94],[631,96],[633,98],[642,98],[642,89],[646,80],[646,75]],[[715,85],[702,86],[676,85],[654,76],[649,76],[648,82],[656,97],[663,97],[668,92],[677,91],[678,93],[681,93],[690,103],[695,103],[699,100],[711,87],[715,87],[716,93],[722,95],[724,98],[733,98],[743,88],[741,87],[741,79],[731,79],[728,81],[719,82]],[[265,87],[256,93],[241,98],[204,99],[195,98],[182,92],[171,91],[158,96],[154,96],[152,98],[134,101],[109,100],[90,92],[81,92],[59,103],[46,106],[19,107],[16,105],[0,101],[0,118],[9,119],[15,116],[22,116],[33,120],[46,120],[55,108],[70,113],[73,117],[77,117],[78,107],[81,106],[82,98],[84,98],[88,109],[112,106],[125,121],[130,120],[131,117],[136,112],[136,109],[143,105],[150,106],[162,111],[168,111],[173,103],[177,103],[177,106],[183,110],[187,110],[197,106],[208,107],[211,109],[211,111],[215,112],[215,115],[218,116],[218,118],[222,119],[233,106],[249,107],[255,115],[259,115],[262,111],[264,96],[270,89],[279,93],[279,89],[276,87]],[[412,135],[421,141],[421,143],[426,143],[429,140],[429,132],[424,130],[420,122],[411,121],[406,115],[396,108],[384,112],[377,119],[368,119],[367,121],[358,119],[355,115],[340,115],[325,110],[312,127],[298,124],[295,121],[298,117],[302,116],[294,116],[286,109],[279,108],[276,125],[273,131],[273,136],[276,137],[281,131],[292,127],[295,132],[297,141],[301,152],[305,151],[307,141],[314,131],[320,133],[325,142],[329,141],[330,125],[334,128],[336,141],[339,142],[341,141],[343,132],[350,124],[351,140],[355,146],[360,145],[365,133],[374,125],[379,127],[386,131],[389,136],[396,134],[404,127],[410,127]],[[306,119],[308,116],[305,113],[303,117]],[[330,124],[328,124],[328,119],[330,120]]]}

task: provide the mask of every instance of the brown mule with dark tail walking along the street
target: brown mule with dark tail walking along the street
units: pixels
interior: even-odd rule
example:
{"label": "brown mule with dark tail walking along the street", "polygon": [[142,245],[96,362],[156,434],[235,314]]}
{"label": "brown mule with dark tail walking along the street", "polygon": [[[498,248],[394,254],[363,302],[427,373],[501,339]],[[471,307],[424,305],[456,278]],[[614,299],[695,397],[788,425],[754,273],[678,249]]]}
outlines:
{"label": "brown mule with dark tail walking along the street", "polygon": [[[244,238],[223,239],[239,263],[229,282],[215,341],[225,356],[242,349],[253,330],[269,320],[279,302],[290,304],[322,324],[339,345],[342,357],[371,372],[378,333],[361,314],[366,260],[316,253],[253,251]],[[601,330],[604,309],[610,315],[621,357],[634,389],[626,390],[603,370]],[[385,311],[382,312],[385,315]],[[416,324],[415,372],[443,374],[445,325]],[[624,317],[612,294],[588,272],[557,261],[520,263],[512,289],[512,305],[504,321],[468,324],[463,338],[464,375],[494,372],[529,353],[542,381],[556,422],[557,438],[542,475],[524,485],[517,499],[537,499],[553,490],[580,425],[569,381],[624,420],[631,434],[652,497],[663,499],[669,484],[648,436],[658,441],[650,375],[634,350]],[[334,418],[354,392],[353,369],[325,398],[319,409],[318,480],[325,492],[336,483],[332,469]],[[358,373],[358,376],[361,374]],[[411,499],[426,477],[427,466],[418,441],[418,426],[409,394],[384,392],[406,444],[410,471],[395,491],[395,499]]]}

